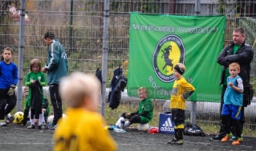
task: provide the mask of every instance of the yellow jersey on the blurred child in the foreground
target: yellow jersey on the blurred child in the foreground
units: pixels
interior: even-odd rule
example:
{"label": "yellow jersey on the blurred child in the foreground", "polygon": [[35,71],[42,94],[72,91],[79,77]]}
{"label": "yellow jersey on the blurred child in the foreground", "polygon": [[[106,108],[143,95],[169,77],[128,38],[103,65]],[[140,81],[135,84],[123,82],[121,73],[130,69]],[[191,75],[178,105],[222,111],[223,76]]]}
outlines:
{"label": "yellow jersey on the blurred child in the foreground", "polygon": [[104,129],[100,113],[85,109],[67,109],[67,118],[59,120],[53,141],[54,150],[114,151],[116,142]]}

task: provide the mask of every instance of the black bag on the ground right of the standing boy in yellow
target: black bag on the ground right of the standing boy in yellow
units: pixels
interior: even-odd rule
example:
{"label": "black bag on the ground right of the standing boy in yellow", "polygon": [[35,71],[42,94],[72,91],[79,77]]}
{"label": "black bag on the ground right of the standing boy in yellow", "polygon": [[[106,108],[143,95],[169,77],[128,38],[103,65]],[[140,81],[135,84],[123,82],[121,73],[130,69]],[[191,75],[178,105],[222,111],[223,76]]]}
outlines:
{"label": "black bag on the ground right of the standing boy in yellow", "polygon": [[199,126],[192,123],[185,123],[184,134],[205,137],[204,131]]}

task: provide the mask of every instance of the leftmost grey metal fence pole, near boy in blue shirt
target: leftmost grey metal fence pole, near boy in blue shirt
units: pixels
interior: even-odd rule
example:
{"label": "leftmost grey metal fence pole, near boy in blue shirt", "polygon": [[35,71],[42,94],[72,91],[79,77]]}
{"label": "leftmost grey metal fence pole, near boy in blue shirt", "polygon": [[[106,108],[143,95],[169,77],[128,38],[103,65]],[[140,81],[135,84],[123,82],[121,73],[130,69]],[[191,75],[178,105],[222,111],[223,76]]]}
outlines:
{"label": "leftmost grey metal fence pole, near boy in blue shirt", "polygon": [[25,31],[25,0],[21,0],[19,17],[19,46],[18,46],[18,87],[17,87],[17,111],[22,108],[22,71],[23,71],[23,50],[24,50],[24,31]]}

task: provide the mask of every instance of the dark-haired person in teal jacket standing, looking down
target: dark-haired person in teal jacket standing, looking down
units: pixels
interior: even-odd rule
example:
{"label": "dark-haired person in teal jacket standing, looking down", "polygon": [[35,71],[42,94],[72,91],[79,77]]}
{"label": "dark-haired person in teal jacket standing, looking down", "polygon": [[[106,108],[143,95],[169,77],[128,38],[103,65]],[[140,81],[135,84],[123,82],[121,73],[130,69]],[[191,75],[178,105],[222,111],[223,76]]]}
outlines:
{"label": "dark-haired person in teal jacket standing, looking down", "polygon": [[47,84],[51,97],[51,105],[54,109],[53,122],[43,129],[55,130],[59,118],[63,115],[62,99],[59,96],[59,81],[67,76],[67,54],[64,47],[55,38],[55,34],[48,31],[44,35],[44,42],[49,46],[47,64],[42,68],[43,73],[47,73]]}

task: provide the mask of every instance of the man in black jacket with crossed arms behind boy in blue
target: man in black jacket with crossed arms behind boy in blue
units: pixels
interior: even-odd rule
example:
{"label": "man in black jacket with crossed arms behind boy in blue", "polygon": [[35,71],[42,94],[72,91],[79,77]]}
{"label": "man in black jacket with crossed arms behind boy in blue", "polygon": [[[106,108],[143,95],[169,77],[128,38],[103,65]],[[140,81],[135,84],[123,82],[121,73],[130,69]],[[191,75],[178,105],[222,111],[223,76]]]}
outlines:
{"label": "man in black jacket with crossed arms behind boy in blue", "polygon": [[[233,42],[231,42],[230,45],[226,46],[224,50],[221,51],[221,54],[219,54],[217,57],[217,63],[222,66],[220,81],[220,85],[222,85],[220,114],[222,110],[222,105],[224,104],[224,93],[227,87],[226,78],[230,76],[229,65],[233,62],[238,62],[240,65],[240,73],[238,75],[242,77],[244,86],[243,105],[241,109],[240,120],[241,129],[243,129],[243,124],[245,122],[244,107],[250,105],[250,99],[248,97],[248,93],[250,91],[250,62],[254,58],[254,50],[251,46],[246,44],[245,39],[246,34],[245,30],[243,30],[242,27],[234,29]],[[225,136],[225,130],[223,129],[223,126],[221,126],[220,133],[217,136],[212,137],[212,140],[221,140]]]}

